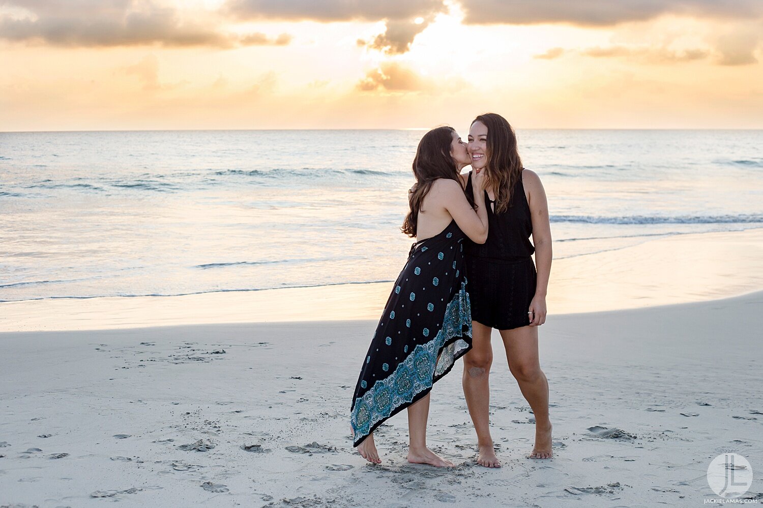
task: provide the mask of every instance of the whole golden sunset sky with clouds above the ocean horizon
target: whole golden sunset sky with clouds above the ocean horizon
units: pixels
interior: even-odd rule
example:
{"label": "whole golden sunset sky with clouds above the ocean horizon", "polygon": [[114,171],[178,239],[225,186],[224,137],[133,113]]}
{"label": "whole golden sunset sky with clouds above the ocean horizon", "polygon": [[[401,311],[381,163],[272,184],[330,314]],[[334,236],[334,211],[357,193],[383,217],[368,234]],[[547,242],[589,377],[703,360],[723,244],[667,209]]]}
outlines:
{"label": "whole golden sunset sky with clouds above the ocean horizon", "polygon": [[761,0],[0,0],[0,130],[763,129]]}

